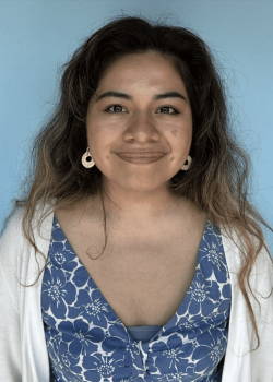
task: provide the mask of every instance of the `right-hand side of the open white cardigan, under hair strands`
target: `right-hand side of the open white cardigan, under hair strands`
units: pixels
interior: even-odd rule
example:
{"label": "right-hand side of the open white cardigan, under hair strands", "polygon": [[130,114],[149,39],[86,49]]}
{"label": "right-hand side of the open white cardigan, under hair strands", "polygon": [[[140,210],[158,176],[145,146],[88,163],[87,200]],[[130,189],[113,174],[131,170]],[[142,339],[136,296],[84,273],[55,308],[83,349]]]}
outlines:
{"label": "right-hand side of the open white cardigan, under hair strands", "polygon": [[[234,230],[232,236],[240,247]],[[252,239],[258,248],[257,239]],[[246,299],[238,284],[242,256],[233,240],[223,236],[223,243],[232,279],[232,309],[222,382],[273,381],[273,262],[271,255],[262,247],[251,268],[249,283],[253,295],[247,283],[245,284],[260,337],[260,346],[256,349],[257,337]]]}

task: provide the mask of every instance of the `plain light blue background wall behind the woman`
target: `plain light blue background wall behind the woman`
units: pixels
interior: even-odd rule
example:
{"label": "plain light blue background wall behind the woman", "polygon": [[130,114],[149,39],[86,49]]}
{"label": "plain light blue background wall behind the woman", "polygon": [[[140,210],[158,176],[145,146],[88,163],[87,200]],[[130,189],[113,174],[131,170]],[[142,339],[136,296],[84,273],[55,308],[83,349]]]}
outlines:
{"label": "plain light blue background wall behind the woman", "polygon": [[173,15],[217,51],[253,162],[253,202],[273,226],[273,2],[261,0],[0,0],[0,224],[24,176],[29,136],[51,107],[58,65],[121,11]]}

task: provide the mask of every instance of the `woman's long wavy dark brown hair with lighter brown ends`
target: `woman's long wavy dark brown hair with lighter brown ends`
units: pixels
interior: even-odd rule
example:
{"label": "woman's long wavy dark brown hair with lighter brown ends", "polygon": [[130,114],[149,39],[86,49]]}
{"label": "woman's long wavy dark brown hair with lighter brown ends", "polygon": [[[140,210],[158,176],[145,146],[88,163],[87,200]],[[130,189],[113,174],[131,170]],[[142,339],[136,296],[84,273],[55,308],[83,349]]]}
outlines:
{"label": "woman's long wavy dark brown hair with lighter brown ends", "polygon": [[[100,170],[96,166],[86,169],[81,163],[87,146],[88,102],[115,60],[147,51],[159,52],[169,60],[185,83],[192,109],[193,132],[189,154],[193,165],[189,171],[178,171],[170,179],[169,192],[186,196],[206,212],[213,224],[233,227],[244,240],[244,250],[237,246],[244,258],[238,283],[258,339],[257,349],[260,338],[247,286],[251,290],[249,276],[262,247],[265,247],[271,259],[258,222],[272,232],[273,229],[248,201],[251,160],[236,141],[227,107],[227,92],[216,69],[215,57],[207,45],[189,28],[121,15],[85,39],[62,65],[57,106],[34,139],[24,195],[13,199],[13,210],[5,218],[3,229],[14,212],[22,208],[23,232],[34,247],[35,256],[40,253],[45,258],[46,266],[47,259],[35,243],[32,227],[38,203],[50,205],[38,220],[40,228],[50,212],[70,207],[87,200],[91,194],[100,195],[103,202]],[[55,203],[50,204],[52,200]],[[107,244],[104,202],[103,208],[104,252]]]}

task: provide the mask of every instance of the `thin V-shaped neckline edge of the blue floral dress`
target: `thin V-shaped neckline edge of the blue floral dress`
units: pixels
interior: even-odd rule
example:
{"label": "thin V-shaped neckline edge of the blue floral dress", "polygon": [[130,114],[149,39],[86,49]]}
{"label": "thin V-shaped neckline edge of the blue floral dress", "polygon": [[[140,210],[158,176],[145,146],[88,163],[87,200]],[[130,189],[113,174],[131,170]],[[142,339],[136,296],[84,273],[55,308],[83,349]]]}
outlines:
{"label": "thin V-shaped neckline edge of the blue floral dress", "polygon": [[[72,246],[70,244],[69,240],[67,239],[67,236],[64,235],[63,230],[61,229],[61,226],[59,225],[59,223],[58,223],[58,220],[57,220],[57,218],[56,218],[55,215],[54,215],[54,222],[56,222],[56,223],[58,224],[58,226],[59,226],[59,228],[60,228],[60,230],[61,230],[63,237],[66,238],[66,240],[67,240],[67,242],[68,242],[68,244],[69,244],[69,247],[70,247],[72,253],[75,255],[75,258],[76,258],[78,261],[80,262],[81,266],[83,266],[83,268],[84,268],[84,271],[87,273],[88,277],[92,279],[92,282],[93,282],[95,288],[97,289],[98,294],[102,296],[102,299],[106,302],[106,305],[107,305],[107,306],[109,307],[109,309],[111,310],[112,314],[116,317],[115,322],[119,322],[119,323],[124,327],[124,331],[126,331],[127,335],[128,335],[130,338],[132,338],[133,342],[135,342],[135,339],[133,339],[133,337],[131,336],[130,332],[128,331],[128,327],[130,329],[130,327],[134,327],[134,326],[126,326],[126,325],[122,323],[122,321],[120,320],[120,318],[117,315],[117,313],[115,312],[115,310],[111,308],[110,303],[109,303],[109,302],[107,301],[107,299],[104,297],[103,293],[100,291],[100,289],[98,288],[98,286],[96,285],[96,283],[95,283],[94,279],[92,278],[92,276],[88,274],[88,272],[87,272],[86,267],[83,265],[81,259],[76,255],[75,251],[73,250],[73,248],[72,248]],[[200,263],[200,256],[201,256],[201,253],[202,253],[202,252],[201,252],[201,246],[202,246],[202,243],[203,243],[204,234],[205,234],[205,231],[206,231],[206,228],[207,228],[207,226],[209,226],[209,223],[211,223],[211,220],[210,220],[210,218],[207,217],[206,223],[205,223],[205,228],[204,228],[204,231],[203,231],[203,234],[202,234],[202,239],[201,239],[201,242],[200,242],[200,246],[199,246],[199,249],[198,249],[198,258],[197,258],[197,265],[195,265],[195,270],[194,270],[194,276],[193,276],[193,279],[192,279],[192,282],[191,282],[189,288],[187,289],[187,293],[186,293],[186,295],[185,295],[185,297],[183,297],[183,299],[182,299],[180,306],[178,307],[178,309],[177,309],[177,311],[175,312],[175,314],[170,318],[170,320],[169,320],[165,325],[152,325],[152,326],[162,326],[162,327],[159,329],[158,332],[156,332],[156,334],[154,334],[154,336],[152,337],[152,339],[150,339],[149,342],[153,341],[154,337],[156,337],[156,336],[158,335],[158,333],[162,333],[162,332],[163,332],[163,330],[169,324],[170,321],[174,320],[174,318],[176,317],[177,312],[180,310],[180,308],[181,308],[182,305],[185,303],[185,298],[186,298],[188,291],[190,290],[190,288],[192,287],[193,283],[195,282],[197,270],[198,270],[198,266],[199,266],[199,263]],[[147,325],[143,325],[143,327],[146,327],[146,326],[147,326]],[[140,326],[140,327],[141,327],[141,326]],[[136,342],[140,342],[140,341],[136,341]]]}

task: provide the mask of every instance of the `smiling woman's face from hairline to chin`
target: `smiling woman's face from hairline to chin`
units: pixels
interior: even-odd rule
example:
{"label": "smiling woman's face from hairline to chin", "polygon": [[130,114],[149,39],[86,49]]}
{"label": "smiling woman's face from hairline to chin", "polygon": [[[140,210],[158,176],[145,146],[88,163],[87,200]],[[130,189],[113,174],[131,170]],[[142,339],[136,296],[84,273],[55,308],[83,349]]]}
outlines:
{"label": "smiling woman's face from hairline to chin", "polygon": [[119,59],[88,104],[86,129],[106,188],[166,189],[192,140],[191,107],[180,75],[156,52]]}

